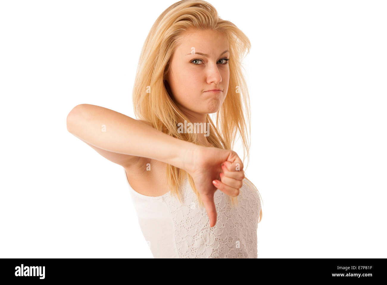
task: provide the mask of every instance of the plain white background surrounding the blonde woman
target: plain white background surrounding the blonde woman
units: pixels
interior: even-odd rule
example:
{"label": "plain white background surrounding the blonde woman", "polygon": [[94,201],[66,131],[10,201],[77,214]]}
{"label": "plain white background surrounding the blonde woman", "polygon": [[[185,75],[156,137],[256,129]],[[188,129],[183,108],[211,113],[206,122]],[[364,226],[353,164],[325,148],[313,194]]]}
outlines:
{"label": "plain white background surrounding the blonde woman", "polygon": [[[174,2],[0,2],[0,257],[152,257],[123,168],[66,116],[134,117],[141,47]],[[258,257],[387,257],[386,3],[210,3],[252,43]]]}

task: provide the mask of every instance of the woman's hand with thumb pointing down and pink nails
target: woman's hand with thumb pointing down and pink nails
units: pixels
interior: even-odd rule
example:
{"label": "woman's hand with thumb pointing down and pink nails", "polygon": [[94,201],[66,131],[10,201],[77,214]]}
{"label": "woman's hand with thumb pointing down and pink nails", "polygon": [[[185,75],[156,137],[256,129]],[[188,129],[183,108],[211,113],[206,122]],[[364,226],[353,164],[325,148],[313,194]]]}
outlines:
{"label": "woman's hand with thumb pointing down and pink nails", "polygon": [[214,194],[219,189],[232,197],[239,195],[242,180],[245,178],[242,161],[233,150],[202,146],[195,148],[188,160],[184,170],[192,176],[207,211],[210,226],[213,227],[217,218]]}

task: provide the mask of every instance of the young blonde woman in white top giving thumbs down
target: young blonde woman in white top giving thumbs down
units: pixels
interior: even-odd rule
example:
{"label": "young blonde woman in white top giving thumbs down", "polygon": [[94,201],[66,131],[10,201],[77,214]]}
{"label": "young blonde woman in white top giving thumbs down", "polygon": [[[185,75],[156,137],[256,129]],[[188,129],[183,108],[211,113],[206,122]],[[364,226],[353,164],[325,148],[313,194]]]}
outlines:
{"label": "young blonde woman in white top giving thumbs down", "polygon": [[89,104],[67,116],[70,133],[124,168],[156,258],[257,258],[261,201],[232,150],[238,132],[248,157],[241,60],[249,50],[247,36],[211,4],[176,2],[142,48],[138,119]]}

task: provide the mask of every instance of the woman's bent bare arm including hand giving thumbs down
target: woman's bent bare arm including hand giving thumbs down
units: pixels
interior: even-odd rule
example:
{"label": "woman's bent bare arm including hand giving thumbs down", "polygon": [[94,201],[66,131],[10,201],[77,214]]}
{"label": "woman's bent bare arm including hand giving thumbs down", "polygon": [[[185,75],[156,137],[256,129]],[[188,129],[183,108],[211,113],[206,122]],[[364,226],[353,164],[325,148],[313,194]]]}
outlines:
{"label": "woman's bent bare arm including hand giving thumbs down", "polygon": [[[131,165],[134,169],[135,162],[147,157],[187,171],[194,180],[211,227],[217,219],[215,191],[219,189],[235,197],[243,185],[244,174],[240,171],[243,164],[234,151],[202,147],[173,138],[146,123],[104,107],[75,106],[67,116],[67,130],[125,169]],[[227,169],[223,169],[225,172],[220,176],[222,163]],[[214,180],[218,183],[213,184]]]}

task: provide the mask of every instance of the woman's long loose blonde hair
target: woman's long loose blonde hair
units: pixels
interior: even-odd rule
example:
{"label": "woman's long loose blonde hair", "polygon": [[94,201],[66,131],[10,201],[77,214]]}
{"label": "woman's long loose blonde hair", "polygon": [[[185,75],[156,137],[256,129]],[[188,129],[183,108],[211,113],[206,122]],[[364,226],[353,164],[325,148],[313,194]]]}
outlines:
{"label": "woman's long loose blonde hair", "polygon": [[[221,19],[216,9],[205,1],[182,0],[176,2],[161,13],[154,22],[142,47],[137,66],[133,87],[134,114],[137,119],[151,123],[156,130],[198,144],[195,133],[178,132],[178,118],[187,120],[187,123],[190,120],[175,105],[164,83],[164,76],[170,69],[173,52],[178,47],[184,33],[191,29],[219,31],[227,37],[229,43],[229,88],[223,105],[216,112],[216,126],[219,126],[219,131],[207,114],[207,123],[210,123],[207,140],[214,147],[232,150],[238,131],[243,140],[243,160],[246,152],[247,158],[249,158],[250,139],[247,145],[247,125],[244,114],[248,117],[250,134],[251,113],[241,62],[245,53],[250,51],[251,44],[247,36],[235,24]],[[149,90],[151,90],[150,93]],[[171,194],[177,195],[179,201],[179,185],[182,185],[187,176],[197,195],[199,204],[202,205],[192,177],[183,169],[167,165],[168,185]],[[250,180],[248,181],[255,187]],[[257,188],[255,187],[255,189]],[[238,202],[236,197],[231,197],[231,200],[233,205],[235,201]],[[262,210],[259,221],[261,220]]]}

